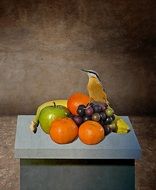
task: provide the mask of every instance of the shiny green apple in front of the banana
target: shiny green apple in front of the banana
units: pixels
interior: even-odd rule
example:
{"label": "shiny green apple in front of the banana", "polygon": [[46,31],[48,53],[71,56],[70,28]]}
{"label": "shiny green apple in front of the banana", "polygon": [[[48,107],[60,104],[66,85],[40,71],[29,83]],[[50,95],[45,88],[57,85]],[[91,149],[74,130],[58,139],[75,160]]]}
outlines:
{"label": "shiny green apple in front of the banana", "polygon": [[42,130],[49,134],[51,123],[55,119],[64,118],[67,117],[69,114],[69,110],[64,106],[50,106],[45,107],[40,115],[39,115],[39,123],[42,128]]}

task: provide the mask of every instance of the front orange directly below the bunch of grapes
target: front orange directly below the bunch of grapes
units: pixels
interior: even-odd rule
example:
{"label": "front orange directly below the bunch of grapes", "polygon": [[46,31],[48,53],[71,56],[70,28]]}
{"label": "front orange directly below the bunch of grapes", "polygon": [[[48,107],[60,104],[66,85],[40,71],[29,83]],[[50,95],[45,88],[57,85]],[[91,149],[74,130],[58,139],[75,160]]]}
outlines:
{"label": "front orange directly below the bunch of grapes", "polygon": [[79,127],[79,138],[85,144],[98,144],[104,137],[104,129],[96,121],[86,121]]}

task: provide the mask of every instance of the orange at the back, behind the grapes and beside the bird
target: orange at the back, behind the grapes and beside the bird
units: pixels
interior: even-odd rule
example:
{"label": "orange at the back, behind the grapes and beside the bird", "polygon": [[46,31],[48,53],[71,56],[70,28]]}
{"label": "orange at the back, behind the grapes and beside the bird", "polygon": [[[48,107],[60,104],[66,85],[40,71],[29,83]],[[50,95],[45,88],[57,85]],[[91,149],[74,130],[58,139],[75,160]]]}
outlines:
{"label": "orange at the back, behind the grapes and beside the bird", "polygon": [[75,92],[68,98],[67,107],[73,115],[78,115],[77,114],[78,106],[79,105],[86,106],[89,103],[89,100],[90,100],[89,96],[81,92]]}

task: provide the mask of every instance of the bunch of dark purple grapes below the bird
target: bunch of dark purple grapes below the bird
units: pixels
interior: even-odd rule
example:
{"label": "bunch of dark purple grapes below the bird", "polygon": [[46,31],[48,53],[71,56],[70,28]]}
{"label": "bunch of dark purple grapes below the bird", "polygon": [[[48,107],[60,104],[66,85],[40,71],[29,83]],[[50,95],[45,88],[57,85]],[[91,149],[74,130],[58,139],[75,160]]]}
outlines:
{"label": "bunch of dark purple grapes below the bird", "polygon": [[112,132],[110,126],[115,119],[115,115],[114,110],[107,104],[92,102],[87,106],[79,105],[77,114],[78,115],[72,115],[71,118],[78,126],[85,121],[93,120],[99,122],[103,126],[106,135]]}

